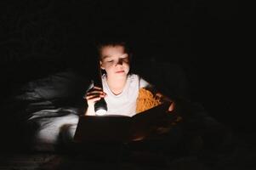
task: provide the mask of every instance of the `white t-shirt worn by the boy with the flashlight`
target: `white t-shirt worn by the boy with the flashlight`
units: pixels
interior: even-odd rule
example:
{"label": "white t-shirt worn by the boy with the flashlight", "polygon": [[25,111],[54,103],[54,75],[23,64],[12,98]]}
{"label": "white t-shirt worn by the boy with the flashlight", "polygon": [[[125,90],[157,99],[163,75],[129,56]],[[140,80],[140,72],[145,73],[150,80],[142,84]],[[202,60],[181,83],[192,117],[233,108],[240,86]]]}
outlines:
{"label": "white t-shirt worn by the boy with the flashlight", "polygon": [[136,74],[128,75],[122,93],[116,95],[111,92],[106,82],[106,75],[103,75],[102,86],[103,91],[107,94],[105,96],[107,104],[106,115],[134,116],[136,114],[136,100],[139,95],[139,88],[148,88],[151,87],[151,84]]}

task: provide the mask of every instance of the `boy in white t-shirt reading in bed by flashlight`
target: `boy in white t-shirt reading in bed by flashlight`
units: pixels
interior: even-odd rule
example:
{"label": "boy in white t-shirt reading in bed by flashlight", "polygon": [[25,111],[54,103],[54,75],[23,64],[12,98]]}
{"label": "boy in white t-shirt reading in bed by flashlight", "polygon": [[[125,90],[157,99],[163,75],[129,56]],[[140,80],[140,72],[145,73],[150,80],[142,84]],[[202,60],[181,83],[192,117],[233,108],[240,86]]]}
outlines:
{"label": "boy in white t-shirt reading in bed by flashlight", "polygon": [[[134,116],[162,101],[170,102],[168,111],[174,110],[174,103],[170,99],[156,93],[153,86],[136,74],[130,73],[131,53],[127,42],[119,40],[100,42],[98,45],[100,68],[105,73],[102,76],[102,88],[92,85],[88,90],[86,100],[88,109],[85,115],[95,116],[94,104],[101,98],[105,99],[108,115]],[[142,108],[142,94],[150,94],[151,105]],[[140,101],[140,102],[139,102]],[[149,102],[147,102],[149,104]]]}

